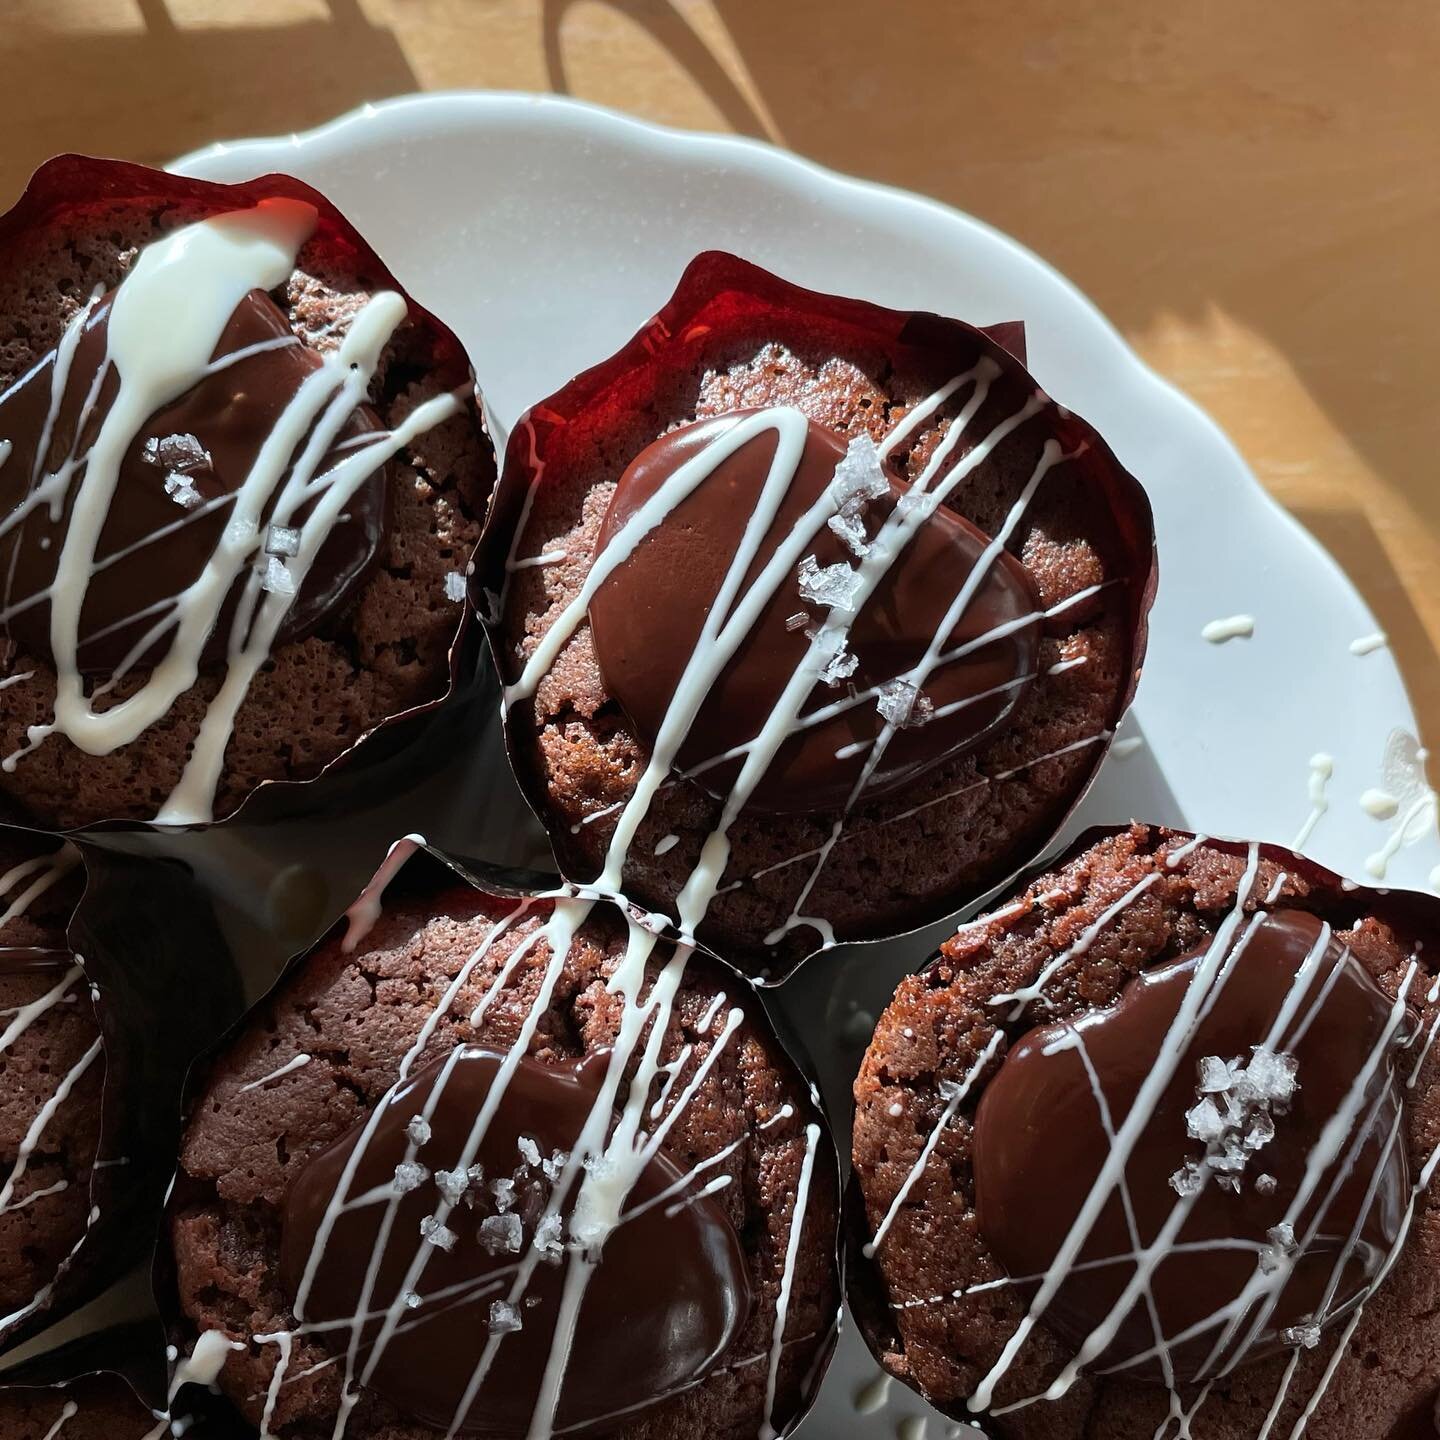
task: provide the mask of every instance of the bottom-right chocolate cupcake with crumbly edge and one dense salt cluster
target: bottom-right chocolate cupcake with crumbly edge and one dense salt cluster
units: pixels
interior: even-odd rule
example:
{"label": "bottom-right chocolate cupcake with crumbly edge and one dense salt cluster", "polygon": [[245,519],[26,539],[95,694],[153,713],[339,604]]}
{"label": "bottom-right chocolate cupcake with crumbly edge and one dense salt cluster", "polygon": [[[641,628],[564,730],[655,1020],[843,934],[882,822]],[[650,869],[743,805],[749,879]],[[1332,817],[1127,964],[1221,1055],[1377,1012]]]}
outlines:
{"label": "bottom-right chocolate cupcake with crumbly edge and one dense salt cluster", "polygon": [[1440,903],[1092,832],[855,1083],[852,1299],[1001,1440],[1410,1440],[1440,1388]]}

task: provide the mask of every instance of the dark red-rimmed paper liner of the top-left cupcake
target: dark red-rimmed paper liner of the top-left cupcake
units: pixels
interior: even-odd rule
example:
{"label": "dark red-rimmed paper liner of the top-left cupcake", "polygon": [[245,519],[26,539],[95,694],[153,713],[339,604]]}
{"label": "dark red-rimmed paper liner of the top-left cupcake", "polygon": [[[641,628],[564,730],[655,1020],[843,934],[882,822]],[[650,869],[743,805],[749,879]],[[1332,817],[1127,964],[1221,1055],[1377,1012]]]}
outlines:
{"label": "dark red-rimmed paper liner of the top-left cupcake", "polygon": [[[194,180],[189,176],[151,170],[124,160],[104,160],[92,156],[63,154],[48,160],[30,177],[24,193],[9,212],[0,216],[0,261],[9,246],[23,242],[33,232],[55,223],[62,216],[81,216],[89,209],[101,209],[122,202],[170,202],[199,206],[212,215],[242,209],[266,199],[302,200],[315,207],[318,223],[311,243],[318,245],[327,259],[346,271],[364,275],[382,288],[405,297],[409,318],[429,341],[432,373],[449,390],[474,390],[474,373],[458,337],[431,311],[418,305],[384,261],[370,248],[364,236],[318,190],[285,174],[265,174],[236,184]],[[478,392],[477,392],[478,395]],[[477,432],[488,439],[478,399],[472,400]],[[487,445],[488,449],[488,445]],[[491,455],[491,468],[494,459]],[[456,608],[455,636],[451,642],[451,674],[445,693],[435,700],[412,706],[377,720],[356,742],[315,775],[302,780],[262,780],[233,811],[209,822],[226,825],[236,821],[271,824],[281,818],[314,814],[334,804],[337,772],[363,772],[366,779],[380,778],[386,783],[405,779],[396,769],[396,757],[403,750],[415,750],[418,742],[429,736],[426,717],[449,708],[472,684],[480,662],[480,645],[472,634],[469,606]],[[52,742],[56,743],[56,742]],[[58,743],[65,743],[63,737]],[[134,742],[143,744],[144,739]],[[317,786],[312,793],[310,786]],[[341,789],[341,795],[344,791]],[[16,802],[12,802],[16,804]],[[27,824],[39,822],[26,816]],[[98,816],[75,827],[72,834],[102,829],[151,829],[151,824],[134,819],[108,821]],[[164,827],[197,829],[207,827]]]}

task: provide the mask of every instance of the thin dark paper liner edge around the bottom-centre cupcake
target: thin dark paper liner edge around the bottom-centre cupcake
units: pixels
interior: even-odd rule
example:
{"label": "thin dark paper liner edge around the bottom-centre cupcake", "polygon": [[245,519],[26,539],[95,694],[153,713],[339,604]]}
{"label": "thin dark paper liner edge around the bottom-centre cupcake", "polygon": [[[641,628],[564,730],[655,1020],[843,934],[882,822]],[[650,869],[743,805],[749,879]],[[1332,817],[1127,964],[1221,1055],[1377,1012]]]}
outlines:
{"label": "thin dark paper liner edge around the bottom-centre cupcake", "polygon": [[[556,891],[556,880],[553,876],[539,874],[531,870],[517,870],[503,865],[487,864],[485,861],[469,860],[465,857],[449,854],[446,851],[442,851],[433,845],[423,844],[420,841],[405,840],[400,841],[399,844],[406,847],[403,858],[400,855],[396,855],[395,864],[392,864],[387,860],[386,864],[382,865],[380,870],[377,870],[376,878],[373,881],[373,884],[376,884],[380,883],[382,877],[386,877],[383,884],[380,886],[382,906],[386,896],[415,897],[425,894],[439,894],[445,890],[454,888],[456,883],[469,886],[471,888],[478,890],[480,893],[494,897],[497,900],[518,901],[518,900],[534,899],[537,896],[553,894]],[[579,888],[566,887],[566,893],[583,894],[585,891],[583,887]],[[356,899],[359,900],[359,897]],[[608,906],[613,904],[613,901],[609,899],[602,900],[602,903]],[[631,906],[628,909],[631,914],[638,920],[649,920],[652,923],[657,919],[654,916],[648,916],[647,912],[644,912],[644,909],[638,906]],[[318,940],[315,940],[314,945],[307,946],[305,949],[292,955],[289,962],[285,965],[285,968],[281,971],[279,975],[276,975],[272,969],[266,966],[258,966],[253,971],[253,973],[243,973],[248,968],[242,962],[240,969],[242,969],[242,976],[246,982],[246,991],[258,998],[255,999],[255,1004],[245,1012],[245,1015],[235,1020],[225,1030],[225,1034],[219,1035],[213,1041],[213,1044],[207,1048],[206,1054],[199,1057],[193,1064],[190,1076],[184,1086],[186,1113],[194,1103],[194,1097],[197,1096],[204,1080],[207,1079],[210,1066],[215,1063],[215,1060],[229,1048],[232,1040],[235,1040],[239,1034],[242,1034],[248,1028],[253,1014],[261,1008],[261,1005],[264,1005],[264,1002],[269,998],[272,992],[278,991],[279,986],[284,985],[285,981],[288,981],[295,973],[295,971],[304,965],[305,959],[311,955],[312,950],[315,950],[321,945],[338,939],[346,933],[346,929],[348,926],[347,916],[348,916],[348,907],[347,912],[341,914],[334,922],[334,924],[331,924],[325,930],[325,933]],[[672,936],[670,937],[672,939]],[[707,960],[714,963],[714,958],[710,956],[707,952],[700,950],[698,953]],[[838,1155],[838,1148],[835,1145],[835,1138],[831,1132],[829,1119],[824,1112],[819,1089],[814,1079],[815,1071],[809,1061],[809,1057],[805,1054],[804,1047],[799,1044],[796,1037],[788,1030],[782,1028],[779,1024],[776,1024],[773,1011],[763,1004],[763,996],[759,994],[759,991],[750,982],[744,981],[743,976],[733,975],[729,966],[724,966],[721,963],[721,969],[726,971],[727,985],[734,982],[744,986],[749,999],[749,1015],[752,1017],[753,1021],[765,1022],[768,1025],[772,1035],[775,1037],[775,1041],[780,1053],[789,1060],[791,1066],[796,1071],[796,1076],[809,1090],[811,1116],[819,1125],[821,1132],[824,1135],[824,1146],[821,1153],[824,1156],[825,1162],[824,1168],[827,1175],[824,1179],[821,1179],[818,1172],[816,1184],[828,1182],[832,1187],[837,1200],[837,1214],[838,1214],[840,1174],[841,1174],[840,1155]],[[173,1188],[174,1188],[174,1202],[180,1202],[183,1179],[181,1176],[179,1176],[179,1172],[176,1172],[176,1184]],[[837,1289],[837,1296],[841,1296],[844,1293],[844,1251],[838,1236],[835,1237],[834,1254],[835,1254],[835,1269],[834,1269],[835,1289]],[[174,1344],[177,1344],[181,1351],[186,1349],[190,1344],[193,1344],[196,1338],[194,1326],[180,1310],[180,1303],[176,1289],[176,1277],[174,1277],[174,1261],[170,1254],[170,1247],[167,1241],[161,1241],[161,1244],[157,1246],[156,1248],[156,1260],[153,1267],[153,1289],[156,1296],[157,1312],[164,1323],[166,1333],[171,1336]],[[815,1354],[811,1362],[811,1368],[805,1380],[805,1392],[802,1397],[802,1403],[796,1408],[795,1414],[789,1416],[785,1420],[785,1424],[779,1430],[780,1436],[789,1436],[805,1418],[805,1416],[809,1414],[815,1403],[815,1398],[819,1394],[819,1387],[829,1367],[831,1356],[834,1355],[835,1351],[835,1342],[840,1336],[840,1320],[841,1320],[841,1310],[840,1306],[837,1305],[834,1323],[828,1329],[827,1335],[821,1339],[821,1342],[815,1346]],[[143,1392],[148,1391],[143,1388]]]}

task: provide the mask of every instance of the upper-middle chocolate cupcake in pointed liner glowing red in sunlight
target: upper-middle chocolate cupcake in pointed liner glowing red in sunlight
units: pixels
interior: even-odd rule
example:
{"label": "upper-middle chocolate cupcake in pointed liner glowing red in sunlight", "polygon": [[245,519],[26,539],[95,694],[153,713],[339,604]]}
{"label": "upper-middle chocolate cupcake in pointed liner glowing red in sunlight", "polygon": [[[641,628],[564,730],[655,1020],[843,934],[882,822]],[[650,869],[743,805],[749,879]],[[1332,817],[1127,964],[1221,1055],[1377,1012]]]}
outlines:
{"label": "upper-middle chocolate cupcake in pointed liner glowing red in sunlight", "polygon": [[1143,492],[1004,344],[716,253],[517,425],[477,590],[564,874],[757,975],[1028,861],[1152,592]]}

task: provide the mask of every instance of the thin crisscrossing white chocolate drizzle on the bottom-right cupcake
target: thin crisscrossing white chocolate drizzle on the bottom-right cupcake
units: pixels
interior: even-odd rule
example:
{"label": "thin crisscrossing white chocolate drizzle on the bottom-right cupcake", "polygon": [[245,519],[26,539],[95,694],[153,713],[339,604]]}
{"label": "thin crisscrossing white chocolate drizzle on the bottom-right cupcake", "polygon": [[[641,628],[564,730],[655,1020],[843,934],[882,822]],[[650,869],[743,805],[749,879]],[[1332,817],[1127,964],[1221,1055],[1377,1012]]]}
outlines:
{"label": "thin crisscrossing white chocolate drizzle on the bottom-right cupcake", "polygon": [[[1171,850],[1165,855],[1164,868],[1174,868],[1178,861],[1184,858],[1184,855],[1189,854],[1198,844],[1202,842],[1204,837],[1195,837],[1187,844]],[[1178,1188],[1176,1202],[1153,1240],[1148,1244],[1140,1241],[1135,1225],[1133,1211],[1130,1208],[1126,1166],[1135,1145],[1139,1142],[1145,1126],[1153,1115],[1156,1102],[1172,1083],[1178,1066],[1188,1053],[1197,1025],[1204,1015],[1208,1014],[1211,1007],[1215,1004],[1220,991],[1234,975],[1237,962],[1243,956],[1250,937],[1266,919],[1267,912],[1263,907],[1254,910],[1254,913],[1248,917],[1244,910],[1254,891],[1259,870],[1260,847],[1251,844],[1247,847],[1244,871],[1237,886],[1234,904],[1228,914],[1225,914],[1217,926],[1212,939],[1197,959],[1194,973],[1187,984],[1179,1009],[1161,1043],[1152,1068],[1143,1079],[1135,1102],[1125,1116],[1112,1116],[1100,1079],[1090,1063],[1083,1031],[1079,1027],[1068,1027],[1066,1034],[1060,1040],[1053,1041],[1050,1050],[1047,1050],[1048,1054],[1058,1048],[1068,1048],[1079,1054],[1100,1113],[1102,1128],[1109,1142],[1109,1152],[1102,1165],[1100,1174],[1086,1192],[1074,1223],[1066,1234],[1050,1269],[1044,1274],[1004,1276],[1001,1279],[965,1286],[945,1295],[920,1296],[891,1302],[893,1309],[904,1310],[910,1308],[943,1305],[969,1295],[1015,1286],[1024,1287],[1027,1292],[1032,1292],[1025,1313],[1002,1346],[999,1358],[975,1384],[973,1392],[966,1401],[971,1413],[1005,1416],[1040,1401],[1060,1400],[1071,1390],[1076,1381],[1087,1372],[1087,1367],[1094,1364],[1099,1356],[1104,1354],[1119,1332],[1125,1318],[1130,1315],[1136,1306],[1143,1305],[1151,1318],[1155,1335],[1153,1346],[1130,1355],[1123,1361],[1112,1362],[1106,1369],[1106,1374],[1123,1377],[1128,1369],[1136,1365],[1143,1365],[1151,1361],[1159,1362],[1166,1384],[1168,1413],[1161,1427],[1155,1431],[1155,1440],[1185,1440],[1185,1437],[1192,1436],[1194,1431],[1191,1430],[1191,1426],[1204,1408],[1214,1384],[1231,1374],[1237,1365],[1243,1364],[1243,1358],[1248,1346],[1261,1333],[1273,1315],[1274,1306],[1279,1303],[1299,1259],[1313,1248],[1316,1237],[1323,1228],[1326,1208],[1331,1200],[1338,1194],[1345,1179],[1354,1172],[1354,1166],[1358,1162],[1364,1145],[1367,1143],[1367,1138],[1374,1132],[1375,1119],[1387,1094],[1385,1087],[1377,1089],[1374,1086],[1374,1080],[1381,1067],[1397,1053],[1397,1048],[1410,1051],[1408,1063],[1404,1068],[1401,1068],[1400,1074],[1404,1077],[1407,1087],[1413,1089],[1416,1086],[1421,1067],[1430,1058],[1437,1032],[1440,1032],[1440,1014],[1437,1014],[1430,1024],[1424,1027],[1408,1025],[1407,1017],[1413,1015],[1413,1005],[1423,1002],[1427,1007],[1433,1007],[1436,1001],[1440,999],[1440,978],[1428,982],[1423,994],[1418,992],[1417,978],[1421,972],[1418,962],[1411,958],[1398,984],[1398,989],[1390,1001],[1388,1018],[1381,1030],[1381,1034],[1371,1047],[1359,1071],[1349,1080],[1348,1089],[1341,1097],[1333,1113],[1323,1119],[1319,1138],[1306,1156],[1303,1174],[1296,1187],[1296,1194],[1286,1208],[1282,1225],[1282,1228],[1287,1230],[1290,1236],[1296,1237],[1295,1243],[1286,1246],[1261,1246],[1246,1240],[1179,1241],[1179,1233],[1184,1228],[1185,1220],[1189,1215],[1198,1195],[1198,1189],[1187,1192],[1182,1188]],[[1151,877],[1156,877],[1161,874],[1161,868],[1158,867],[1148,871],[1148,874]],[[1284,878],[1284,874],[1282,874],[1269,887],[1269,894],[1263,901],[1264,906],[1277,899],[1283,890]],[[1112,923],[1129,904],[1133,904],[1135,899],[1139,894],[1143,894],[1143,891],[1145,886],[1133,886],[1125,896],[1120,897],[1120,900],[1106,910],[1103,924]],[[1015,907],[1011,907],[1009,912],[1002,912],[1001,914],[1011,914],[1014,910]],[[976,923],[991,923],[994,919],[996,917],[985,917]],[[1092,940],[1093,929],[1094,927],[1090,927],[1084,933],[1084,936],[1089,936]],[[1081,939],[1084,939],[1084,936]],[[1322,926],[1319,937],[1297,968],[1290,989],[1280,1004],[1279,1012],[1261,1041],[1261,1050],[1274,1054],[1289,1050],[1309,1028],[1319,1011],[1319,1007],[1323,1004],[1325,996],[1329,994],[1331,986],[1336,981],[1341,965],[1345,963],[1349,953],[1348,950],[1341,952],[1339,959],[1335,962],[1328,979],[1320,986],[1319,996],[1306,1002],[1306,996],[1319,975],[1319,966],[1329,945],[1331,929],[1329,926]],[[1066,956],[1073,953],[1073,949],[1074,948],[1066,952]],[[1056,966],[1053,965],[1047,966],[1048,973],[1054,973],[1054,969]],[[1037,982],[1035,985],[1027,986],[1024,992],[1017,991],[1015,994],[1024,994],[1025,998],[1034,998],[1040,989],[1041,985]],[[1015,999],[1015,995],[996,996],[994,1004],[1004,1005],[1012,999]],[[1017,1018],[1017,1011],[1009,1011],[1008,1018]],[[973,1076],[988,1063],[992,1047],[998,1043],[1001,1035],[1002,1032],[996,1028],[991,1038],[991,1045],[979,1056],[976,1066],[971,1071],[971,1079],[966,1080],[965,1086],[958,1087],[958,1093],[971,1087]],[[1369,1094],[1372,1090],[1375,1093]],[[955,1102],[952,1097],[942,1113],[942,1128],[949,1123]],[[1316,1344],[1315,1336],[1320,1333],[1319,1325],[1322,1325],[1325,1318],[1331,1313],[1331,1306],[1339,1289],[1345,1267],[1349,1263],[1349,1257],[1352,1256],[1355,1247],[1361,1244],[1365,1218],[1378,1195],[1381,1175],[1391,1148],[1403,1143],[1400,1135],[1403,1117],[1404,1112],[1397,1110],[1394,1123],[1382,1138],[1384,1143],[1381,1145],[1380,1158],[1365,1192],[1359,1217],[1355,1220],[1348,1238],[1336,1250],[1326,1290],[1316,1312],[1319,1319],[1313,1333],[1308,1331],[1302,1335],[1297,1331],[1292,1336],[1290,1332],[1286,1332],[1284,1338],[1290,1348],[1290,1358],[1282,1375],[1279,1391],[1273,1397],[1273,1403],[1269,1405],[1264,1418],[1257,1421],[1259,1430],[1254,1431],[1254,1440],[1272,1440],[1272,1437],[1273,1440],[1279,1440],[1279,1436],[1274,1434],[1274,1426],[1290,1394],[1292,1381],[1299,1369],[1300,1358],[1308,1348]],[[897,1212],[900,1204],[903,1204],[909,1188],[924,1172],[930,1151],[933,1151],[933,1143],[926,1148],[926,1152],[922,1153],[913,1171],[906,1176],[906,1181],[897,1192],[897,1197],[891,1204],[891,1210],[886,1217],[887,1221]],[[1315,1391],[1305,1401],[1293,1427],[1286,1433],[1287,1440],[1299,1440],[1299,1437],[1305,1433],[1309,1420],[1315,1416],[1329,1382],[1346,1352],[1351,1336],[1359,1325],[1369,1297],[1374,1296],[1375,1290],[1378,1290],[1384,1283],[1390,1270],[1394,1267],[1401,1248],[1404,1247],[1405,1237],[1414,1220],[1416,1207],[1420,1197],[1430,1185],[1437,1166],[1440,1166],[1440,1146],[1428,1153],[1417,1179],[1411,1187],[1408,1207],[1390,1254],[1385,1257],[1375,1279],[1369,1284],[1365,1297],[1354,1308],[1351,1315],[1346,1318],[1346,1322],[1339,1326],[1338,1336],[1332,1338],[1333,1351],[1328,1358],[1326,1367]],[[1336,1175],[1326,1181],[1326,1175],[1335,1168],[1338,1168]],[[1092,1233],[1092,1227],[1097,1223],[1102,1211],[1107,1204],[1110,1204],[1113,1197],[1119,1198],[1125,1211],[1130,1231],[1132,1250],[1122,1256],[1080,1261],[1079,1256]],[[1315,1202],[1318,1208],[1313,1211],[1312,1218],[1306,1221],[1305,1215],[1312,1202]],[[884,1230],[886,1225],[881,1225],[877,1231],[876,1243],[884,1238]],[[867,1250],[870,1248],[871,1247],[867,1247]],[[1256,1264],[1250,1279],[1238,1295],[1221,1306],[1214,1315],[1208,1316],[1204,1322],[1197,1322],[1188,1331],[1178,1335],[1164,1335],[1161,1331],[1159,1310],[1151,1292],[1151,1283],[1156,1267],[1166,1256],[1171,1254],[1184,1251],[1210,1253],[1217,1250],[1254,1254]],[[1132,1266],[1132,1274],[1104,1319],[1102,1319],[1093,1328],[1090,1335],[1087,1335],[1076,1346],[1071,1358],[1060,1368],[1060,1371],[1040,1394],[1007,1398],[1004,1403],[998,1403],[996,1388],[1009,1374],[1012,1365],[1030,1342],[1035,1326],[1044,1320],[1045,1312],[1060,1286],[1066,1283],[1071,1274],[1089,1269],[1112,1266],[1116,1261],[1129,1263]],[[1201,1364],[1197,1372],[1195,1384],[1191,1388],[1189,1400],[1187,1401],[1182,1400],[1179,1385],[1174,1375],[1171,1351],[1178,1345],[1191,1342],[1198,1336],[1205,1335],[1212,1335],[1214,1341],[1208,1351],[1208,1358],[1204,1364]]]}

